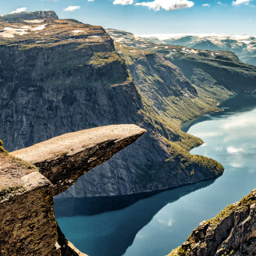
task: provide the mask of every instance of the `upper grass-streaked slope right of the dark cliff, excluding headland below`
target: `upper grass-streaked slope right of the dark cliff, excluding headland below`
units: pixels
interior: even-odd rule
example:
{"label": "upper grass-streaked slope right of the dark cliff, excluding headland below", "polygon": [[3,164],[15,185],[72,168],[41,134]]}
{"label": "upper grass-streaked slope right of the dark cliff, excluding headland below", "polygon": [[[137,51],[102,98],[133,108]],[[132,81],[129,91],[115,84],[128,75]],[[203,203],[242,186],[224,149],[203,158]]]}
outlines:
{"label": "upper grass-streaked slope right of the dark cliff, excluding headland below", "polygon": [[217,101],[194,89],[183,73],[162,55],[115,44],[126,62],[138,91],[156,116],[170,119],[176,126],[204,113],[219,111]]}

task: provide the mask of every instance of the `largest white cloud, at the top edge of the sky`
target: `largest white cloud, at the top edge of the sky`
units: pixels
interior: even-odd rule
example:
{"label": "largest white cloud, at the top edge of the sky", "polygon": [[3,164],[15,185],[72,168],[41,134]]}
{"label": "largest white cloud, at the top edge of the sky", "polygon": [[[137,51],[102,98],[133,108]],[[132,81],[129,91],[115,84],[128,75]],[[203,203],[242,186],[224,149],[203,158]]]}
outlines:
{"label": "largest white cloud, at the top edge of the sky", "polygon": [[188,0],[155,0],[152,2],[137,2],[135,5],[148,6],[149,9],[165,9],[167,11],[176,9],[190,8],[194,5],[194,2]]}

